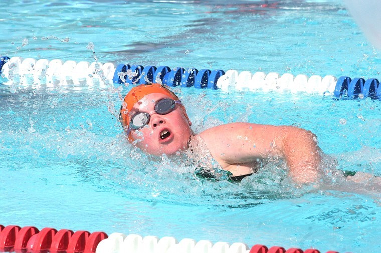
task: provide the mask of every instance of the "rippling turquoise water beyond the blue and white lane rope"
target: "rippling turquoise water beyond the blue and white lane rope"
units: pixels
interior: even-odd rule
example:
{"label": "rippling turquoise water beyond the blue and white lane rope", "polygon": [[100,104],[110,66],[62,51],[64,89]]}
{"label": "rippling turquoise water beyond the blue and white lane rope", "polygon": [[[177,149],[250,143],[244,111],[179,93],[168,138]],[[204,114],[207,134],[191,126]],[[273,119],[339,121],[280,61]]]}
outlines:
{"label": "rippling turquoise water beyond the blue and white lane rope", "polygon": [[[341,1],[37,1],[3,6],[0,53],[170,67],[378,75]],[[187,53],[185,53],[187,52]]]}

